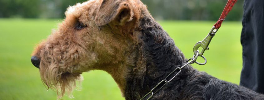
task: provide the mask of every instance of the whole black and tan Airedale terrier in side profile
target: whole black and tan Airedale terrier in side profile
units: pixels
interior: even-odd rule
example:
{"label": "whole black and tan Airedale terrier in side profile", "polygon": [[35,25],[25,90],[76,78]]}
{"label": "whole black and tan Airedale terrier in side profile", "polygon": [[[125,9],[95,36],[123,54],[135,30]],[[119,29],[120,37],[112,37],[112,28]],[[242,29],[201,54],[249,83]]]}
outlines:
{"label": "whole black and tan Airedale terrier in side profile", "polygon": [[[139,100],[172,70],[182,52],[140,0],[90,0],[69,7],[66,18],[31,58],[59,98],[71,94],[81,74],[104,70],[126,100]],[[148,96],[149,97],[149,96]],[[263,100],[263,94],[216,79],[188,65],[151,100]]]}

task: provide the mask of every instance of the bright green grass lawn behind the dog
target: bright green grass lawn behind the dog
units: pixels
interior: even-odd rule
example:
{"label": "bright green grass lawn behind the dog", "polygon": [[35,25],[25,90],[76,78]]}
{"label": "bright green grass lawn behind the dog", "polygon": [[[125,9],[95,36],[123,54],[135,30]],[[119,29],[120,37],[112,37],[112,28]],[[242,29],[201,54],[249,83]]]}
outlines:
{"label": "bright green grass lawn behind the dog", "polygon": [[[39,71],[30,62],[30,54],[39,41],[46,39],[61,20],[0,19],[0,100],[55,100],[56,92],[44,87]],[[210,31],[215,21],[159,21],[187,58],[192,48]],[[224,21],[204,56],[206,65],[196,69],[232,83],[239,83],[242,69],[241,22]],[[199,60],[201,61],[201,60]],[[91,71],[82,74],[81,91],[74,99],[124,100],[109,74]]]}

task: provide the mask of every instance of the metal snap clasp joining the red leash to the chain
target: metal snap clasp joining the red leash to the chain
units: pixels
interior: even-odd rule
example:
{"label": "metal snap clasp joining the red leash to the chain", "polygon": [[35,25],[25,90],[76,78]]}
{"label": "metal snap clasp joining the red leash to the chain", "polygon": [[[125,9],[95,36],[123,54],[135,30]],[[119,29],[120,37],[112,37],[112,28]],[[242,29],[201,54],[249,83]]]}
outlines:
{"label": "metal snap clasp joining the red leash to the chain", "polygon": [[212,40],[212,38],[215,36],[216,32],[218,31],[218,28],[215,29],[215,26],[212,27],[209,34],[202,40],[197,42],[193,47],[193,53],[196,54],[199,47],[202,47],[201,53],[199,53],[199,56],[202,56],[205,50],[209,50],[209,44]]}

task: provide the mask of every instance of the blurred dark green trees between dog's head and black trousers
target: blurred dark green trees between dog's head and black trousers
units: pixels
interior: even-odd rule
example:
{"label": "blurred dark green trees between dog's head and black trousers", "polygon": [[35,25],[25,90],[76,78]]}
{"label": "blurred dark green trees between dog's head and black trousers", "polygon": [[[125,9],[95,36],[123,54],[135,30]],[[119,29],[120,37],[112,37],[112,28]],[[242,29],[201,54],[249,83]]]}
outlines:
{"label": "blurred dark green trees between dog's head and black trousers", "polygon": [[[142,0],[156,19],[218,20],[227,0]],[[243,0],[238,0],[226,20],[241,20]]]}

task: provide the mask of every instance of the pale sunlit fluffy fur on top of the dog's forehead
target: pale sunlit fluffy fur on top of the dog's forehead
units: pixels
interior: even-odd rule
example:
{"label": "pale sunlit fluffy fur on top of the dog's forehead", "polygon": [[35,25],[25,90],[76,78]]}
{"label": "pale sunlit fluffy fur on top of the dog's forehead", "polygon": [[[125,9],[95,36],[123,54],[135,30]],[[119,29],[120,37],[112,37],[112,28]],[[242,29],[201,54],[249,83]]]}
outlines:
{"label": "pale sunlit fluffy fur on top of the dog's forehead", "polygon": [[69,6],[65,12],[67,16],[79,17],[83,12],[85,12],[89,7],[96,6],[100,4],[101,0],[89,0],[83,3],[77,3],[74,6]]}

